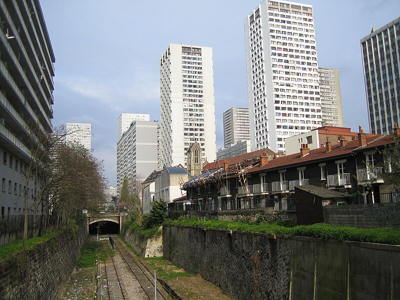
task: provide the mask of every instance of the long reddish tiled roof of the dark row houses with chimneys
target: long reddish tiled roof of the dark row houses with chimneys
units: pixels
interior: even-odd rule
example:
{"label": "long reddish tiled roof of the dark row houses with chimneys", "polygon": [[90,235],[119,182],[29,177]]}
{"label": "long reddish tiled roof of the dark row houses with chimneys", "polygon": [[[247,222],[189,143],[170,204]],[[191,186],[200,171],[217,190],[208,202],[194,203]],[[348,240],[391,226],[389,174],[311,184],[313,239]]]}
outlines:
{"label": "long reddish tiled roof of the dark row houses with chimneys", "polygon": [[309,151],[309,154],[306,154],[305,156],[300,156],[300,152],[286,155],[286,156],[281,156],[277,157],[274,159],[270,159],[268,163],[260,166],[259,164],[247,169],[247,172],[255,172],[255,171],[261,171],[265,169],[271,169],[271,168],[284,168],[286,166],[290,166],[293,164],[299,164],[305,161],[310,161],[310,160],[319,160],[319,159],[324,159],[328,157],[334,157],[334,156],[341,156],[344,154],[351,153],[352,151],[358,151],[358,150],[365,150],[368,148],[375,148],[377,146],[382,146],[386,143],[393,142],[393,136],[392,135],[372,135],[372,136],[366,136],[365,137],[367,144],[364,146],[359,146],[359,141],[358,139],[350,140],[347,142],[347,144],[343,147],[340,146],[340,144],[332,145],[331,146],[331,151],[326,152],[326,147],[320,147],[317,149],[312,149]]}

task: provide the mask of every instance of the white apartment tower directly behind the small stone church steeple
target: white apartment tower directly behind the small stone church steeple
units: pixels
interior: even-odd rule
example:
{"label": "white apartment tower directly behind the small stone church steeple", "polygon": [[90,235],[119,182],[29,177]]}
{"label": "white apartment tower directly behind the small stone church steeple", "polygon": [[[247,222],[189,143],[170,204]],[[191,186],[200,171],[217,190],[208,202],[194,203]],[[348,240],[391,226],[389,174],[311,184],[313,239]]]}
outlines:
{"label": "white apartment tower directly behind the small stone church steeple", "polygon": [[212,49],[170,43],[160,58],[160,166],[187,166],[194,141],[215,159]]}

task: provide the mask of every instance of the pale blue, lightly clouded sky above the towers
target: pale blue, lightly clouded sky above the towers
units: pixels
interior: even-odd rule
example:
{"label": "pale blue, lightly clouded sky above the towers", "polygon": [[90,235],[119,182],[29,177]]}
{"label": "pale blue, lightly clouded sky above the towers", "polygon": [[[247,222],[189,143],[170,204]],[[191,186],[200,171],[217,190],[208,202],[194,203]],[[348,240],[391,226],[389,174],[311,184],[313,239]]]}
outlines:
{"label": "pale blue, lightly clouded sky above the towers", "polygon": [[[213,50],[217,149],[222,113],[248,107],[243,20],[261,0],[40,0],[55,54],[53,126],[91,123],[92,154],[116,184],[117,118],[159,117],[169,43]],[[369,132],[360,39],[399,16],[398,0],[308,0],[318,66],[339,70],[344,126]]]}

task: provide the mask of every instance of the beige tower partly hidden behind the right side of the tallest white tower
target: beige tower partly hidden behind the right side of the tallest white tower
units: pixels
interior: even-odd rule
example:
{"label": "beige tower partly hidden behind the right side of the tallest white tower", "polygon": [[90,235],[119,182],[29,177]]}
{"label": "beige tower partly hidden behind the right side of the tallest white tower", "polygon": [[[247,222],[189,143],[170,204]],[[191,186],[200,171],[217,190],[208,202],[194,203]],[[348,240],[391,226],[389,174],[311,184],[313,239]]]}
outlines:
{"label": "beige tower partly hidden behind the right side of the tallest white tower", "polygon": [[318,73],[323,125],[343,127],[339,70],[318,67]]}

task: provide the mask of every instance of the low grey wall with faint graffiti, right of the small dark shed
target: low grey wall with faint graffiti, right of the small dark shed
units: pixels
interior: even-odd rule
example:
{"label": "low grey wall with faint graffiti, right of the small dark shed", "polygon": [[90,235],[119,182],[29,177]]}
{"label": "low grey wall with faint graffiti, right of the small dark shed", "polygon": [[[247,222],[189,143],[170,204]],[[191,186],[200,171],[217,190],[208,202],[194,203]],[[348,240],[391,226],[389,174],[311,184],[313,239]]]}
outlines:
{"label": "low grey wall with faint graffiti, right of the small dark shed", "polygon": [[400,227],[400,202],[326,205],[323,206],[325,223],[362,228]]}

